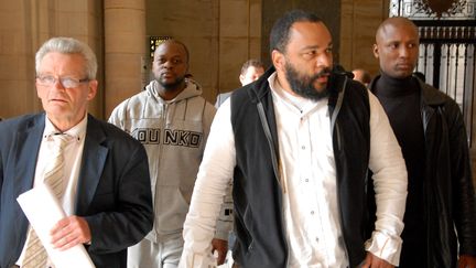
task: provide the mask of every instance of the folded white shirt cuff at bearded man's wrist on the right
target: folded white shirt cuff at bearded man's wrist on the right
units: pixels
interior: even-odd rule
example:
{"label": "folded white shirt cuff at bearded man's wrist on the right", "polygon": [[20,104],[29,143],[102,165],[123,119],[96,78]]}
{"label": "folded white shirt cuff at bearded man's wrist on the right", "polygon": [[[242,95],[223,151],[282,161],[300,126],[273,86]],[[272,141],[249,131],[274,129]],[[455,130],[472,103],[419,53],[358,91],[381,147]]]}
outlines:
{"label": "folded white shirt cuff at bearded man's wrist on the right", "polygon": [[375,231],[371,238],[366,242],[365,248],[376,257],[385,259],[393,266],[399,266],[401,245],[400,236],[389,236]]}

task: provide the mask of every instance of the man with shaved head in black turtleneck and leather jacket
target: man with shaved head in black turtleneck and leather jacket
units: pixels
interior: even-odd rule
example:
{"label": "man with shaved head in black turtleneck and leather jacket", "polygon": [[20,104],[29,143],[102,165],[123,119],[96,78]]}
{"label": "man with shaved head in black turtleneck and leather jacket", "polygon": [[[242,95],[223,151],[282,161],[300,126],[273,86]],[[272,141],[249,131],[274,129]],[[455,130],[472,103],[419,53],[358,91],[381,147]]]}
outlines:
{"label": "man with shaved head in black turtleneck and leather jacket", "polygon": [[[419,35],[405,18],[383,21],[370,90],[402,148],[408,200],[400,267],[476,267],[476,204],[463,117],[445,94],[412,76]],[[459,260],[458,260],[459,253]]]}

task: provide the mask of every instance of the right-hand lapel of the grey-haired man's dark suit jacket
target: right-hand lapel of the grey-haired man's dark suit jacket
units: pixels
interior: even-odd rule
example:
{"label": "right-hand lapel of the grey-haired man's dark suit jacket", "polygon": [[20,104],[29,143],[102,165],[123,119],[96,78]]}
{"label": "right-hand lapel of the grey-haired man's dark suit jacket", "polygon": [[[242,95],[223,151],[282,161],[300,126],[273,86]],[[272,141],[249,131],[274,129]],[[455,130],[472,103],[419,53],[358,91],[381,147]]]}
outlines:
{"label": "right-hand lapel of the grey-haired man's dark suit jacket", "polygon": [[83,163],[77,189],[77,215],[83,215],[87,212],[99,184],[109,151],[104,146],[106,138],[100,124],[94,117],[88,116]]}

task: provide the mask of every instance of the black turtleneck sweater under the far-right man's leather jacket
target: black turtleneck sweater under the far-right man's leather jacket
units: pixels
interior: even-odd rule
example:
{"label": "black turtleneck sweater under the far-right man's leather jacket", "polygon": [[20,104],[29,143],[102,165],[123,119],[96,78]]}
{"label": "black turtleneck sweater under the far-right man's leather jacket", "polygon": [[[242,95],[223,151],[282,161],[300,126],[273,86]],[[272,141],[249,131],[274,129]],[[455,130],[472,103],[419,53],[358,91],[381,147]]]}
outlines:
{"label": "black turtleneck sweater under the far-right man's leather jacket", "polygon": [[421,89],[413,77],[396,79],[382,74],[375,82],[372,92],[389,117],[408,170],[408,197],[399,267],[426,267],[426,221],[423,203],[425,142],[420,109]]}

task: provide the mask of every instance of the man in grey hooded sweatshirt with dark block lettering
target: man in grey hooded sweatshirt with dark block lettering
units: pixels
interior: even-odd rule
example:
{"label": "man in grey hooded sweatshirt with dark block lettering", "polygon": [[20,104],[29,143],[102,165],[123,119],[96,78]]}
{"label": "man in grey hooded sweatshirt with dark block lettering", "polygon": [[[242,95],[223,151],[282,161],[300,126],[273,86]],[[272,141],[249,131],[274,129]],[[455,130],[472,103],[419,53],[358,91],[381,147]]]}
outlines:
{"label": "man in grey hooded sweatshirt with dark block lettering", "polygon": [[[142,142],[149,157],[155,221],[152,232],[129,248],[128,267],[176,267],[183,249],[182,229],[215,107],[188,73],[188,50],[167,40],[154,53],[154,79],[126,99],[109,121]],[[223,224],[226,228],[227,224]],[[219,229],[213,247],[220,261],[228,229]]]}

